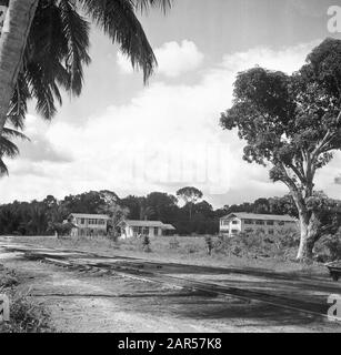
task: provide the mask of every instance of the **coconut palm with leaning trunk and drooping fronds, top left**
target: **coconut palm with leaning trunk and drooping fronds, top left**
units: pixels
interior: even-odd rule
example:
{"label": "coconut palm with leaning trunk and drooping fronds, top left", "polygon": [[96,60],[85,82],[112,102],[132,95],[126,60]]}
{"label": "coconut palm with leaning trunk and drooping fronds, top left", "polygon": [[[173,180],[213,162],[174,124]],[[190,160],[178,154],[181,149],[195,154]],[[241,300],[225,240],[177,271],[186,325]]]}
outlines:
{"label": "coconut palm with leaning trunk and drooping fronds, top left", "polygon": [[171,0],[0,0],[7,4],[0,37],[0,135],[8,119],[22,126],[27,100],[51,119],[60,89],[81,93],[83,67],[90,63],[89,32],[94,23],[142,69],[144,82],[157,64],[137,11]]}

